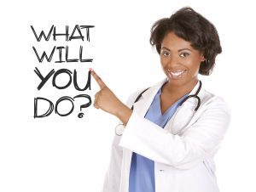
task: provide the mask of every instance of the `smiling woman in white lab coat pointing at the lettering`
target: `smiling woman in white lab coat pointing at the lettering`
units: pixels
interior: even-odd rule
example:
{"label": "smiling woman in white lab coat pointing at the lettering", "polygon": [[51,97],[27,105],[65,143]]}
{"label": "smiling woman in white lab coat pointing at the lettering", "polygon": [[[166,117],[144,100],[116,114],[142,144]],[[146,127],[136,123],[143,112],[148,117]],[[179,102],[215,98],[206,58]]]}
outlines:
{"label": "smiling woman in white lab coat pointing at the lettering", "polygon": [[195,10],[182,8],[153,25],[150,43],[160,54],[166,79],[131,94],[127,105],[90,69],[101,88],[94,106],[121,124],[103,191],[217,192],[213,156],[230,110],[201,88],[198,73],[209,75],[221,53],[218,32]]}

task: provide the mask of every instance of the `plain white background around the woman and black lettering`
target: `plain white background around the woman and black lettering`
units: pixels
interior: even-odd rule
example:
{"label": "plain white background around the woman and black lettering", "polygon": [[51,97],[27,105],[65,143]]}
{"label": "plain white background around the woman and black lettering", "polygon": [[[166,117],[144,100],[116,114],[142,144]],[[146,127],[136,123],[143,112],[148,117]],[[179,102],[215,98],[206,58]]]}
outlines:
{"label": "plain white background around the woman and black lettering", "polygon": [[[252,1],[253,2],[253,1]],[[119,99],[164,78],[156,52],[148,43],[154,21],[189,5],[218,29],[223,54],[204,87],[230,105],[232,120],[216,155],[218,185],[223,192],[256,191],[255,187],[255,9],[249,1],[8,1],[1,5],[0,191],[101,191],[108,167],[113,127],[118,121],[92,106],[67,117],[52,113],[33,118],[34,97],[55,101],[79,94],[73,86],[58,90],[47,82],[37,90],[33,72],[78,70],[79,81],[89,67],[102,76]],[[36,42],[30,25],[48,31],[51,25],[96,25],[90,43],[63,37]],[[59,27],[59,28],[58,28]],[[32,46],[88,46],[90,64],[38,64]],[[49,49],[51,50],[51,49]],[[78,51],[74,51],[75,56]],[[57,53],[56,53],[57,54]],[[50,78],[51,80],[51,78]],[[86,91],[93,98],[95,82]]]}

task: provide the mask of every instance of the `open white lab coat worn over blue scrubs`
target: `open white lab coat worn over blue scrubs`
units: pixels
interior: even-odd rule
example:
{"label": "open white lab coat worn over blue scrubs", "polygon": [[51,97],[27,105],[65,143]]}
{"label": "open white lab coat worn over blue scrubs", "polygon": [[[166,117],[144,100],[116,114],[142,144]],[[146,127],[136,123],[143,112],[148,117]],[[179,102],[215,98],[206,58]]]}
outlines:
{"label": "open white lab coat worn over blue scrubs", "polygon": [[[230,110],[223,99],[201,88],[201,106],[195,114],[197,101],[189,99],[166,127],[159,127],[144,116],[164,82],[143,93],[123,135],[114,136],[103,192],[129,191],[132,151],[154,161],[155,192],[218,192],[213,156],[229,125]],[[189,94],[198,87],[199,83]],[[139,93],[128,99],[130,107]]]}

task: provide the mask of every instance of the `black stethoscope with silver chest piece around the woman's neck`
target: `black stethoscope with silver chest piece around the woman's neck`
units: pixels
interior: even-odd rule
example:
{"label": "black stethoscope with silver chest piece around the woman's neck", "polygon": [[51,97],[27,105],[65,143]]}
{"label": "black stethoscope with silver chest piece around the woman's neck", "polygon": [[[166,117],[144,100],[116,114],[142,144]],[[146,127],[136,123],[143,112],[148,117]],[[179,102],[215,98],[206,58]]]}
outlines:
{"label": "black stethoscope with silver chest piece around the woman's neck", "polygon": [[[146,92],[148,90],[148,88],[146,88],[145,90],[143,90],[142,93],[140,93],[138,96],[137,96],[137,99],[135,99],[134,103],[132,104],[131,106],[131,110],[133,110],[133,105],[142,97],[143,93]],[[184,102],[186,102],[188,99],[191,99],[191,98],[195,98],[197,99],[197,104],[196,104],[196,107],[195,107],[195,112],[198,110],[198,108],[200,107],[201,105],[201,99],[200,97],[198,96],[198,93],[201,91],[201,81],[199,80],[199,87],[197,88],[195,94],[190,94],[188,95],[187,97],[185,97],[178,106],[181,106],[183,105]],[[124,124],[123,123],[119,123],[116,127],[115,127],[115,134],[118,135],[118,136],[121,136],[124,132]]]}

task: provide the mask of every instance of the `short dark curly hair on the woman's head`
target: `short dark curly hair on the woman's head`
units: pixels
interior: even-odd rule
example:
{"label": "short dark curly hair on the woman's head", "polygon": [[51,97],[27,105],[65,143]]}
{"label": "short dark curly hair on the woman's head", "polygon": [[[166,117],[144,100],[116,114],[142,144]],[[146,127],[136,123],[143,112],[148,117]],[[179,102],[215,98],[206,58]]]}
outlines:
{"label": "short dark curly hair on the woman's head", "polygon": [[191,46],[204,55],[205,60],[201,61],[199,73],[209,76],[217,54],[222,52],[215,26],[193,8],[181,8],[170,18],[157,20],[152,26],[149,42],[156,48],[158,54],[160,54],[161,42],[171,31],[177,37],[191,42]]}

